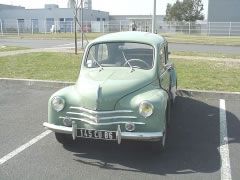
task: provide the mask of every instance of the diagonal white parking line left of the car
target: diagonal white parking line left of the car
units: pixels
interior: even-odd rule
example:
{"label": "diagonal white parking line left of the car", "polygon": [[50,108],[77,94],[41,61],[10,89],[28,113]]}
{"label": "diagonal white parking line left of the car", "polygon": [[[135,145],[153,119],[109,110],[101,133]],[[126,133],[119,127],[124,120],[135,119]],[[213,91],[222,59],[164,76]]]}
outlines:
{"label": "diagonal white parking line left of the car", "polygon": [[20,146],[19,148],[15,149],[14,151],[10,152],[9,154],[7,154],[6,156],[2,157],[0,159],[0,165],[2,165],[3,163],[5,163],[6,161],[8,161],[9,159],[13,158],[14,156],[16,156],[17,154],[19,154],[20,152],[24,151],[25,149],[27,149],[28,147],[30,147],[31,145],[35,144],[36,142],[38,142],[39,140],[41,140],[42,138],[44,138],[45,136],[47,136],[48,134],[50,134],[52,131],[47,130],[44,131],[42,134],[38,135],[37,137],[33,138],[32,140],[30,140],[29,142],[27,142],[26,144]]}

